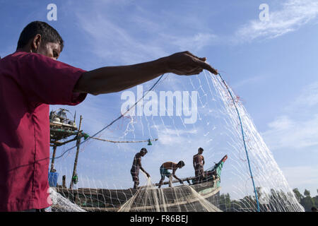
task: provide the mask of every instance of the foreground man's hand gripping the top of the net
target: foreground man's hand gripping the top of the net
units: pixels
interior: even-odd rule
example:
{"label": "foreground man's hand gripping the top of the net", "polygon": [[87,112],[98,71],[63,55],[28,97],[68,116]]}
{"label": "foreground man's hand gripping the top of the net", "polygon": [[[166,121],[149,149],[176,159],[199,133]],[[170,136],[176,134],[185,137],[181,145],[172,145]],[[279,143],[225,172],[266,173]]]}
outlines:
{"label": "foreground man's hand gripping the top of the net", "polygon": [[204,69],[217,75],[218,71],[206,63],[206,57],[196,57],[191,52],[178,52],[165,57],[167,71],[177,75],[196,75]]}

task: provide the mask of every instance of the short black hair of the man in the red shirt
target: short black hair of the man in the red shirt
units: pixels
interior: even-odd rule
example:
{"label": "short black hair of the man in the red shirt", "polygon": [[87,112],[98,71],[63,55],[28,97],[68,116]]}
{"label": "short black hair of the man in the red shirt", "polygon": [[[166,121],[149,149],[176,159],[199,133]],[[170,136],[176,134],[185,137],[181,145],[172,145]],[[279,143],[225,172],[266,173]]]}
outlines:
{"label": "short black hair of the man in the red shirt", "polygon": [[37,34],[41,35],[42,44],[46,44],[47,42],[58,43],[61,47],[61,51],[63,50],[64,41],[59,35],[59,32],[42,21],[33,21],[23,28],[16,49],[25,47],[25,45]]}

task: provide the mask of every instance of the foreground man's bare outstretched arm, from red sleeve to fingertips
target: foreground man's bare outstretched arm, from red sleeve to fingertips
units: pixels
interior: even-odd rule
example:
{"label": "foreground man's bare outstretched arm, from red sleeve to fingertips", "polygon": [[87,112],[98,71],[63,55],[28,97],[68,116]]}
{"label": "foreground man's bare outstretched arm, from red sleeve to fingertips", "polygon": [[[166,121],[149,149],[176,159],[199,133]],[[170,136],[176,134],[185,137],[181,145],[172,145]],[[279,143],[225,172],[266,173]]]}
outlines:
{"label": "foreground man's bare outstretched arm, from red sleeve to fingertips", "polygon": [[116,93],[150,81],[163,73],[190,76],[206,69],[217,74],[216,69],[205,61],[206,58],[196,57],[190,52],[179,52],[141,64],[106,66],[83,73],[76,83],[74,92],[93,95]]}

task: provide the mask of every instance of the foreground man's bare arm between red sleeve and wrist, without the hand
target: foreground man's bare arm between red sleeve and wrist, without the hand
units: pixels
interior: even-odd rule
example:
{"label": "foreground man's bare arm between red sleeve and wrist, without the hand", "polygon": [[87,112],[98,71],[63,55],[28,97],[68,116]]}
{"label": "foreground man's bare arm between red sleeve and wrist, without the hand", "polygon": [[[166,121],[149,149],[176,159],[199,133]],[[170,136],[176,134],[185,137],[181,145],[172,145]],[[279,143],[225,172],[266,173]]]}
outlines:
{"label": "foreground man's bare arm between red sleeve and wrist, without the hand", "polygon": [[128,66],[106,66],[83,73],[74,92],[93,95],[116,93],[167,72],[164,58]]}

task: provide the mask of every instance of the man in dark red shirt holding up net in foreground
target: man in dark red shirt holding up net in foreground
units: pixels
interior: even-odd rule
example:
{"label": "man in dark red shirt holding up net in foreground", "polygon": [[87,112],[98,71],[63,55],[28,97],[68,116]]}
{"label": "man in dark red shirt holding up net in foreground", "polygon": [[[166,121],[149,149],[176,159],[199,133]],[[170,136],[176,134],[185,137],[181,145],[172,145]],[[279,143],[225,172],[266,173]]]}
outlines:
{"label": "man in dark red shirt holding up net in foreground", "polygon": [[217,74],[190,52],[129,66],[84,71],[57,61],[59,33],[34,21],[16,52],[0,59],[0,211],[43,210],[49,203],[49,105],[78,105],[88,93],[114,93],[163,73]]}

